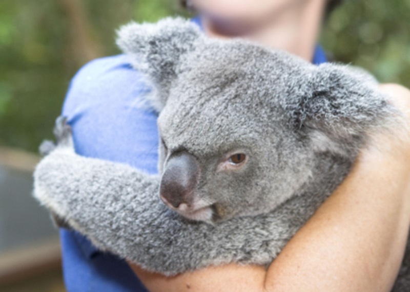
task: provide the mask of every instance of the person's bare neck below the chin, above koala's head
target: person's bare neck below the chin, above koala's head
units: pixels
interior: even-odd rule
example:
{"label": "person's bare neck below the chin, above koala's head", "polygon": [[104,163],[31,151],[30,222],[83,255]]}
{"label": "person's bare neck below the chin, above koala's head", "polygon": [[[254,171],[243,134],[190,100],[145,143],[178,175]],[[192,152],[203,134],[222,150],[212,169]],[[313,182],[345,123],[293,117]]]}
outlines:
{"label": "person's bare neck below the chin, above koala's head", "polygon": [[[274,49],[288,51],[312,61],[323,13],[321,1],[307,1],[303,7],[277,13],[253,27],[235,31],[221,29],[222,25],[207,15],[201,16],[204,32],[210,37],[240,37]],[[229,27],[229,24],[223,24]],[[235,27],[235,24],[232,24]]]}

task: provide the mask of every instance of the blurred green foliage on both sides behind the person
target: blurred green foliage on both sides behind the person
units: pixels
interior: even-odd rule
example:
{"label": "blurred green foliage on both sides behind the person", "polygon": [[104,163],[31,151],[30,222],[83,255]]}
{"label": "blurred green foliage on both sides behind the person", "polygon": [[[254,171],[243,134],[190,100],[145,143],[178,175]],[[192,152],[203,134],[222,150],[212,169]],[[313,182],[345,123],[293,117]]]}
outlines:
{"label": "blurred green foliage on both sides behind the person", "polygon": [[[325,50],[410,87],[410,0],[345,2],[323,30]],[[180,13],[170,0],[0,1],[0,145],[37,151],[80,66],[119,53],[115,29]]]}

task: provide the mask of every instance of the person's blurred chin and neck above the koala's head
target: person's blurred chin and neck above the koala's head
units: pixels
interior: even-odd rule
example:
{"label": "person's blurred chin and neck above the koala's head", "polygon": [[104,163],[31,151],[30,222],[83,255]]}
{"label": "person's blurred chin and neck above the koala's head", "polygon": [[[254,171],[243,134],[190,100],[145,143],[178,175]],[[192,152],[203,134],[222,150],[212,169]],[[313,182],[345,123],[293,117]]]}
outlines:
{"label": "person's blurred chin and neck above the koala's head", "polygon": [[[210,37],[241,37],[311,61],[322,23],[324,0],[194,0]],[[302,3],[302,4],[301,4]]]}

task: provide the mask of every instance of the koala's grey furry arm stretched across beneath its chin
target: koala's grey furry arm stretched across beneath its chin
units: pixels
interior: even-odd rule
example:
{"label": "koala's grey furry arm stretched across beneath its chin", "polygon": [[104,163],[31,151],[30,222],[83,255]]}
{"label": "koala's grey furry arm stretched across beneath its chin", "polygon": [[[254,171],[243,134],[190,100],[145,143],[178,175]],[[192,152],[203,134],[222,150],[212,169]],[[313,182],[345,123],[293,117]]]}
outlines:
{"label": "koala's grey furry arm stretched across beneath its chin", "polygon": [[58,223],[148,271],[172,276],[231,262],[269,264],[296,232],[286,210],[216,226],[188,221],[162,204],[157,176],[77,155],[64,119],[55,134],[57,147],[42,146],[49,154],[34,172],[34,196]]}

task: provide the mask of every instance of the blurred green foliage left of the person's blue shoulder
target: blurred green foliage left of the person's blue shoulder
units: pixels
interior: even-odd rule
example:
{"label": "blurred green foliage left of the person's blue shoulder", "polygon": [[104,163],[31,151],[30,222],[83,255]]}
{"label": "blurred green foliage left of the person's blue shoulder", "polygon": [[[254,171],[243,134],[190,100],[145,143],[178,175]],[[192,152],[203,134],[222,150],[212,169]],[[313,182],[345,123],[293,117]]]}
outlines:
{"label": "blurred green foliage left of the person's blue shoulder", "polygon": [[[0,145],[37,152],[52,138],[75,72],[90,59],[119,53],[115,30],[131,19],[177,12],[167,0],[0,1]],[[81,33],[90,50],[81,47]]]}

